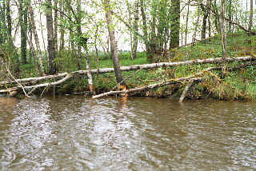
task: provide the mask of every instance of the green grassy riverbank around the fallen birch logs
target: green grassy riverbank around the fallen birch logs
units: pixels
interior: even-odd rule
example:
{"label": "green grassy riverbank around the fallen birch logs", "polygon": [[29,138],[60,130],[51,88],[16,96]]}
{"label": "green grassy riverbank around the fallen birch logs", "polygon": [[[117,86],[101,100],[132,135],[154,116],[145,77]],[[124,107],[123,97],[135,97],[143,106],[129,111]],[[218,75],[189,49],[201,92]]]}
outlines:
{"label": "green grassy riverbank around the fallen birch logs", "polygon": [[[254,54],[255,37],[251,38],[248,43],[246,34],[237,33],[229,35],[228,51],[231,58],[248,56]],[[221,38],[216,36],[205,42],[199,42],[194,46],[182,47],[172,52],[174,57],[163,58],[161,55],[155,57],[154,62],[184,62],[194,59],[206,58],[221,58],[222,45]],[[146,53],[138,53],[138,58],[130,59],[129,52],[122,52],[119,56],[121,66],[133,66],[150,63],[146,58]],[[72,72],[77,69],[77,62],[74,61],[74,56],[69,51],[63,51],[58,54],[56,64],[59,72]],[[243,66],[241,66],[243,65]],[[202,70],[209,67],[216,67],[216,64],[194,64],[187,66],[171,66],[161,67],[150,70],[132,70],[122,72],[128,89],[152,85],[159,82],[168,82],[177,78],[185,78],[191,75],[198,74]],[[239,66],[239,67],[238,67]],[[91,69],[99,69],[113,67],[112,60],[109,57],[99,55],[95,57],[90,55]],[[22,73],[20,78],[38,77],[34,70],[34,65],[21,66]],[[225,78],[221,78],[220,70],[211,70],[201,74],[200,82],[194,82],[185,94],[186,99],[200,99],[205,97],[214,97],[220,100],[256,100],[256,70],[252,62],[230,62],[227,64]],[[235,70],[234,70],[235,69]],[[54,82],[54,79],[52,80]],[[175,82],[174,84],[161,86],[154,89],[144,89],[129,93],[130,96],[146,96],[146,97],[171,97],[178,98],[182,95],[188,82]],[[105,93],[110,90],[116,90],[117,83],[114,78],[114,73],[94,74],[94,87],[96,93]],[[0,88],[1,89],[1,88]],[[61,95],[61,94],[86,94],[92,95],[89,91],[87,78],[78,76],[63,82],[54,87],[38,88],[34,91],[36,95]]]}

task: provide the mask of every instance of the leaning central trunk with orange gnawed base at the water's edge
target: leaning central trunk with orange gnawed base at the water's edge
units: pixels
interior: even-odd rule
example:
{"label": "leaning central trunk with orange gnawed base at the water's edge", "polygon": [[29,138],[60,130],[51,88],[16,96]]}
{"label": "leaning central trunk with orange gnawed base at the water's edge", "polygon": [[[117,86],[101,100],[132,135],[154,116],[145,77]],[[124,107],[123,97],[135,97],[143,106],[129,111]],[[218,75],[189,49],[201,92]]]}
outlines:
{"label": "leaning central trunk with orange gnawed base at the water's edge", "polygon": [[120,70],[119,66],[119,60],[118,60],[118,46],[117,42],[115,40],[115,35],[114,35],[114,26],[112,22],[112,16],[111,16],[111,11],[110,11],[110,0],[105,0],[105,5],[106,5],[106,24],[107,24],[107,29],[109,31],[110,35],[110,49],[111,49],[111,55],[112,59],[114,62],[114,74],[116,81],[122,85],[121,89],[126,87],[126,83],[123,82],[122,80],[122,72]]}

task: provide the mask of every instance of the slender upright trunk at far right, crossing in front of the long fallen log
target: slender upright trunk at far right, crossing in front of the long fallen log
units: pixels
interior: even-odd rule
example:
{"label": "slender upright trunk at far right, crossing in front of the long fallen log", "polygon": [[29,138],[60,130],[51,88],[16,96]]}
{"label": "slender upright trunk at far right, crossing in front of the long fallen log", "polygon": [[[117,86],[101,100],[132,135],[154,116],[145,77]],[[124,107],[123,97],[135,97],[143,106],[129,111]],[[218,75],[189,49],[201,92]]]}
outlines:
{"label": "slender upright trunk at far right, crossing in front of the long fallen log", "polygon": [[222,50],[223,50],[223,56],[222,56],[222,76],[223,77],[226,74],[226,58],[227,58],[227,51],[226,51],[226,20],[225,20],[226,6],[225,5],[226,5],[225,0],[222,0],[221,29],[222,29]]}

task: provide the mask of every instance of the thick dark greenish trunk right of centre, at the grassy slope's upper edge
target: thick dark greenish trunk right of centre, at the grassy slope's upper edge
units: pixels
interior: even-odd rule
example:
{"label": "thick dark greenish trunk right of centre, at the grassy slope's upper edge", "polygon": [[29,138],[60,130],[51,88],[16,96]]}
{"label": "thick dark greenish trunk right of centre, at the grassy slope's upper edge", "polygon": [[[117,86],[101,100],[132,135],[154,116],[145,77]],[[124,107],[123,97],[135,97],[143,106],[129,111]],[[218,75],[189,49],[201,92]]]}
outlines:
{"label": "thick dark greenish trunk right of centre, at the grassy slope's upper edge", "polygon": [[172,16],[174,24],[170,27],[172,33],[170,34],[170,49],[179,46],[179,30],[180,30],[180,0],[171,0]]}

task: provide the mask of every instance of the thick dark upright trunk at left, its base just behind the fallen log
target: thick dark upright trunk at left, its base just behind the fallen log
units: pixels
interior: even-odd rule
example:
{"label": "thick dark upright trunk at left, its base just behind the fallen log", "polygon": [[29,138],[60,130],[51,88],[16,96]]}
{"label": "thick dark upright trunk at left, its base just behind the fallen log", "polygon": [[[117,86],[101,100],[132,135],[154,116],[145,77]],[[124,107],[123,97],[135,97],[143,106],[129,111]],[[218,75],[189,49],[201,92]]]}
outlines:
{"label": "thick dark upright trunk at left, its base just behind the fallen log", "polygon": [[52,16],[52,3],[51,0],[46,0],[46,29],[47,29],[47,50],[48,50],[48,61],[49,61],[49,73],[55,74],[57,72],[56,65],[54,64],[55,58],[55,45],[54,45],[54,23]]}

